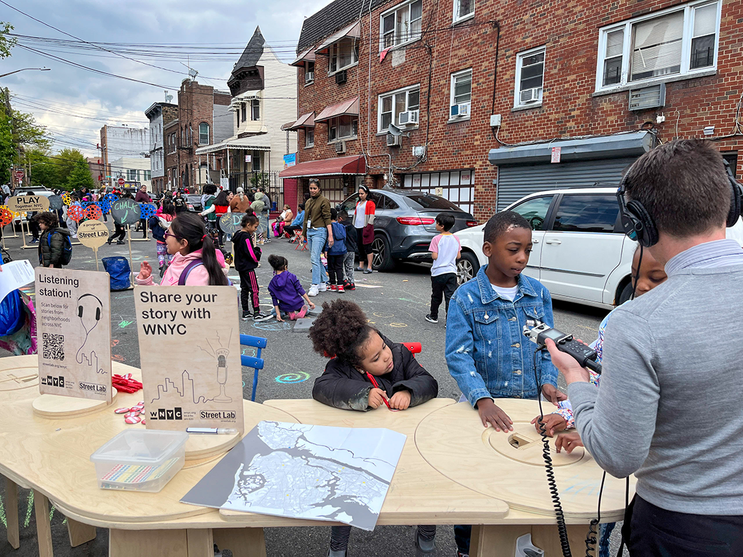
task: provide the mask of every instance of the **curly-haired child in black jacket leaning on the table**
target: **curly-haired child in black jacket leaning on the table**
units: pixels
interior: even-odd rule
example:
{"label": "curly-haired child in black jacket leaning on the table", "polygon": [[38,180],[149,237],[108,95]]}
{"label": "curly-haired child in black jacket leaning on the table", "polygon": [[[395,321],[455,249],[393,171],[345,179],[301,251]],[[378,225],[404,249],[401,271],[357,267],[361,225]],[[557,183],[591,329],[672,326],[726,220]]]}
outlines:
{"label": "curly-haired child in black jacket leaning on the table", "polygon": [[[323,404],[344,410],[368,411],[381,405],[404,410],[438,395],[438,382],[412,353],[369,326],[353,302],[322,304],[310,338],[316,352],[332,358],[312,389],[312,397]],[[328,557],[345,557],[350,533],[350,526],[333,527]],[[435,534],[435,526],[418,527],[416,556],[433,554]]]}

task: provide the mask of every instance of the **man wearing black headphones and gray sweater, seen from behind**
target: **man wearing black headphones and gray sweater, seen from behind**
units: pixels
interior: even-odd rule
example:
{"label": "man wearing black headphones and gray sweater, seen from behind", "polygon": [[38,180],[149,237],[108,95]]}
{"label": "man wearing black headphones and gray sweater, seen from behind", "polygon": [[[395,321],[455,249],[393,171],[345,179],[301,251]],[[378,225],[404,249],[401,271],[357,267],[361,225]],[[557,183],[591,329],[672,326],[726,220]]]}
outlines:
{"label": "man wearing black headphones and gray sweater, seen from behind", "polygon": [[625,231],[668,280],[614,310],[601,388],[548,341],[585,447],[637,477],[623,536],[631,556],[743,555],[743,250],[725,239],[741,186],[713,144],[644,154],[617,193]]}

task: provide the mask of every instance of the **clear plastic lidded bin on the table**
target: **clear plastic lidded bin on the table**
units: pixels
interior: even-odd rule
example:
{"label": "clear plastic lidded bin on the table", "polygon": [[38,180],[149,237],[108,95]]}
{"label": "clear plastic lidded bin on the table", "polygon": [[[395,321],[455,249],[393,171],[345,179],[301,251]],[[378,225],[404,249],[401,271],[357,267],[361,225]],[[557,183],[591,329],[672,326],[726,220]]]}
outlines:
{"label": "clear plastic lidded bin on the table", "polygon": [[101,489],[158,492],[186,461],[185,431],[127,429],[91,455]]}

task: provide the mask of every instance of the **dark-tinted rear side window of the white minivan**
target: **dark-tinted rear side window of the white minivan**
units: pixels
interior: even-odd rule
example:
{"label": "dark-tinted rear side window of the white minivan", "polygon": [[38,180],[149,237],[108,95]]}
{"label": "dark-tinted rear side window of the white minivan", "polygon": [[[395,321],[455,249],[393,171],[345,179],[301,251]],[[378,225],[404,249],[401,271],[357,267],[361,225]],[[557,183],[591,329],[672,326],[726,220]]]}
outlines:
{"label": "dark-tinted rear side window of the white minivan", "polygon": [[614,232],[618,216],[616,195],[564,195],[552,229],[560,232]]}

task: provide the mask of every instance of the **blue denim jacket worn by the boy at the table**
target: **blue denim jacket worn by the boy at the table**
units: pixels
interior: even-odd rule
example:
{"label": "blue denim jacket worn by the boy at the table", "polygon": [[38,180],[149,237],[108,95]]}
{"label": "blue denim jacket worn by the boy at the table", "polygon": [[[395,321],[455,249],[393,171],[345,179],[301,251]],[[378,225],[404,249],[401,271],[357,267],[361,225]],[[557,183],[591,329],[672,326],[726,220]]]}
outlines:
{"label": "blue denim jacket worn by the boy at the table", "polygon": [[[519,275],[515,299],[503,299],[493,290],[486,269],[480,267],[449,303],[449,373],[473,406],[481,398],[536,398],[536,345],[522,330],[527,319],[554,325],[552,298],[541,282]],[[536,361],[542,385],[557,386],[557,368],[548,352],[540,352]]]}

